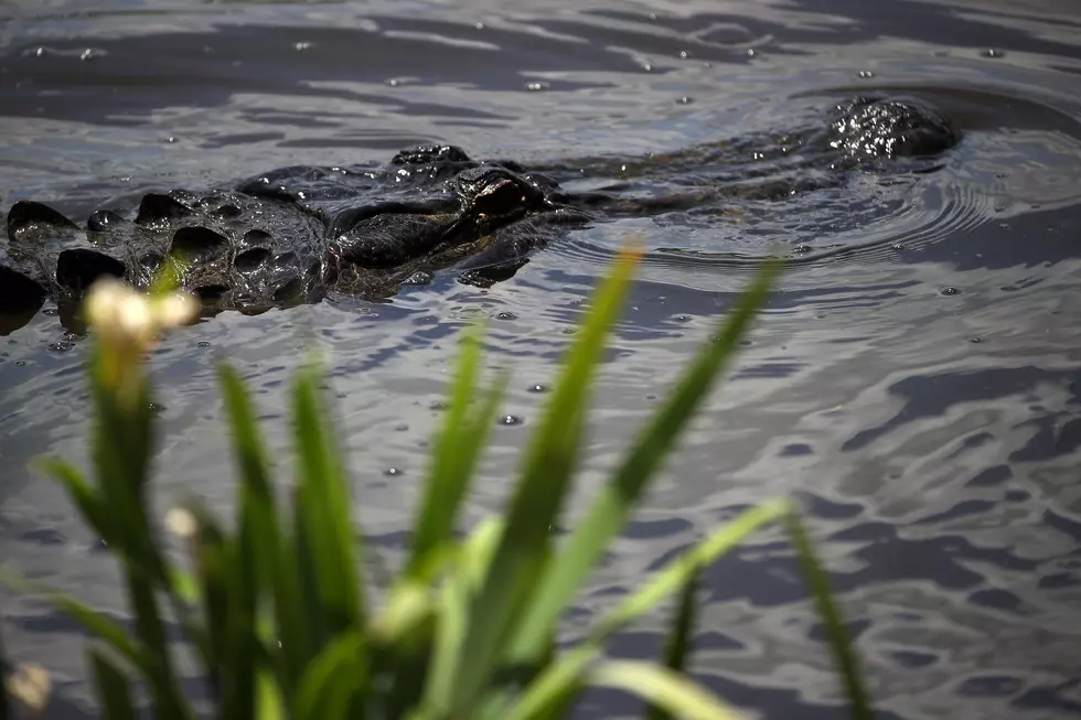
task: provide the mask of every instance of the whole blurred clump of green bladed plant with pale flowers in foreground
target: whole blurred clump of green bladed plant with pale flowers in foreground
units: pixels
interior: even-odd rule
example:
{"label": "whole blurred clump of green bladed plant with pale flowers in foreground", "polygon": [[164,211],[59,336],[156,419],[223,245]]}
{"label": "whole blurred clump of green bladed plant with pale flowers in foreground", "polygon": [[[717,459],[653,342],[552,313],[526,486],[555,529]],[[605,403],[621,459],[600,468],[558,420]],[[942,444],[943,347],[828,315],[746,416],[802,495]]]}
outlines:
{"label": "whole blurred clump of green bladed plant with pale flowers in foreground", "polygon": [[[621,254],[596,290],[504,513],[462,533],[459,509],[506,386],[502,374],[479,389],[480,331],[465,334],[408,557],[379,598],[363,574],[364,536],[350,516],[346,473],[314,363],[298,373],[291,389],[296,483],[286,504],[245,385],[221,366],[239,474],[236,517],[226,529],[199,503],[170,511],[164,526],[188,561],[171,559],[168,538],[148,509],[154,416],[142,357],[161,332],[190,318],[192,305],[175,295],[148,300],[116,283],[96,286],[86,304],[94,329],[94,482],[65,462],[45,468],[119,561],[133,631],[66,594],[14,577],[7,581],[41,593],[98,641],[88,647],[89,667],[110,719],[133,719],[142,703],[158,720],[197,714],[170,641],[174,626],[194,651],[213,714],[228,720],[556,718],[593,686],[640,696],[651,718],[723,719],[736,712],[687,674],[696,578],[756,529],[783,522],[830,630],[853,716],[871,717],[826,577],[788,499],[762,503],[716,529],[616,603],[584,638],[557,649],[561,615],[731,359],[778,271],[770,264],[753,281],[592,505],[560,537],[552,528],[559,526],[584,449],[589,389],[636,259],[633,251]],[[613,634],[673,597],[660,663],[606,657]],[[40,668],[35,677],[41,680]],[[41,681],[6,685],[32,708],[44,702],[43,692],[33,691]],[[11,712],[0,694],[0,720]]]}

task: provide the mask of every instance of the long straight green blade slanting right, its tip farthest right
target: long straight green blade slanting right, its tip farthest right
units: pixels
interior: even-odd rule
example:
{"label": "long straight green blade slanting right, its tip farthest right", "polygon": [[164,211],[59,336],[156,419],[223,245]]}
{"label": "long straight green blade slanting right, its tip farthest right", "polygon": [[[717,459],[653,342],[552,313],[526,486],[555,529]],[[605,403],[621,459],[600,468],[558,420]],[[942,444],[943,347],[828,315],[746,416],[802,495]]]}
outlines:
{"label": "long straight green blade slanting right, its tip farthest right", "polygon": [[739,340],[746,335],[758,310],[766,303],[779,269],[779,264],[768,264],[759,272],[735,311],[723,322],[715,338],[699,351],[675,389],[639,434],[612,481],[601,490],[558,558],[550,563],[547,577],[540,583],[540,590],[533,599],[513,643],[512,659],[528,662],[542,653],[564,608],[586,580],[611,538],[627,523],[631,511],[656,476],[662,461],[708,397],[709,389],[735,354]]}

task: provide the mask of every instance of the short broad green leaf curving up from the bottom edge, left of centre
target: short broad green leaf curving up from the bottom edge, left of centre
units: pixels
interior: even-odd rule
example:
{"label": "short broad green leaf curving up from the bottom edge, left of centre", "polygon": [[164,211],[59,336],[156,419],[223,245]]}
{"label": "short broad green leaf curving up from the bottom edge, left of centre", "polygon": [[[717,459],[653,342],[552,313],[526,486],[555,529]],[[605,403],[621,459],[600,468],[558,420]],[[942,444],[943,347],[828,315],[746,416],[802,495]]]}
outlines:
{"label": "short broad green leaf curving up from the bottom edge, left of centre", "polygon": [[365,684],[365,641],[349,632],[315,656],[300,680],[293,717],[297,720],[346,720]]}

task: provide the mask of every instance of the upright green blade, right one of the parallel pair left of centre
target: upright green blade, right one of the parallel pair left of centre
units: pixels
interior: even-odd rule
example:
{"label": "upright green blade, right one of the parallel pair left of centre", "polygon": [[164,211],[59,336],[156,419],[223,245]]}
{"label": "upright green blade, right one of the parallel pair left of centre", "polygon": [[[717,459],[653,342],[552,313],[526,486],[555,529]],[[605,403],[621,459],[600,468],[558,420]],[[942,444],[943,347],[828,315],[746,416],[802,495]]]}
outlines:
{"label": "upright green blade, right one of the parallel pair left of centre", "polygon": [[365,610],[357,571],[360,540],[350,518],[347,481],[320,407],[315,377],[310,367],[298,374],[293,432],[300,459],[297,503],[301,525],[297,533],[303,534],[300,547],[306,551],[298,560],[314,581],[323,622],[322,645],[343,632],[360,632]]}

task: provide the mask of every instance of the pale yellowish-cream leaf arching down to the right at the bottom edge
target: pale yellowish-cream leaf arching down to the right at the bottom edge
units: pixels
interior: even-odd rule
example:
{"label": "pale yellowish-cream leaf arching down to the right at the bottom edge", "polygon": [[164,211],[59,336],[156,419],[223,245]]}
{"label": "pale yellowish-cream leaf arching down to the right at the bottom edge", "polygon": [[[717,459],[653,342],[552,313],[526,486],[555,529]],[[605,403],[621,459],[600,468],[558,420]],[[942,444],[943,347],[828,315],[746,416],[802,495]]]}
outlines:
{"label": "pale yellowish-cream leaf arching down to the right at the bottom edge", "polygon": [[734,708],[686,676],[652,663],[601,663],[589,673],[588,683],[632,692],[670,716],[686,720],[742,720]]}

